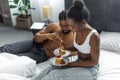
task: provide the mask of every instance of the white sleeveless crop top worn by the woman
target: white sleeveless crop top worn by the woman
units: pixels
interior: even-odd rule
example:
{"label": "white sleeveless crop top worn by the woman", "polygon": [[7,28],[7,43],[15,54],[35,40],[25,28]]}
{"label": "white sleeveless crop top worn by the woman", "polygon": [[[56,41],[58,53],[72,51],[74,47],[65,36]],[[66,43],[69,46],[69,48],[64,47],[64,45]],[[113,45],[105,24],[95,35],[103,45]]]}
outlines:
{"label": "white sleeveless crop top worn by the woman", "polygon": [[[89,44],[89,41],[90,41],[90,37],[92,36],[93,33],[97,32],[96,30],[92,30],[90,31],[90,33],[87,35],[84,43],[82,45],[79,45],[76,43],[76,32],[74,33],[74,42],[73,42],[73,45],[74,47],[81,53],[83,54],[90,54],[90,44]],[[81,37],[82,38],[82,37]]]}

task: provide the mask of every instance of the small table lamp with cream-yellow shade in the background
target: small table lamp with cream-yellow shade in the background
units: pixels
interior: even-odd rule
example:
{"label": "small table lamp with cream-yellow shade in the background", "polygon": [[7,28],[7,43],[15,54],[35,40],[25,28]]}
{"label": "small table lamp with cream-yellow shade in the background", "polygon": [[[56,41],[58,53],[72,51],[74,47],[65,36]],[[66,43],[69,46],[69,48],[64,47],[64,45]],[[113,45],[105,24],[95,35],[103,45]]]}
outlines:
{"label": "small table lamp with cream-yellow shade in the background", "polygon": [[43,15],[47,19],[47,24],[51,21],[49,20],[52,17],[52,7],[50,5],[43,6]]}

